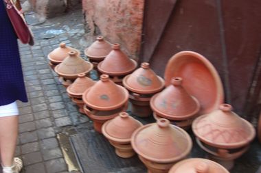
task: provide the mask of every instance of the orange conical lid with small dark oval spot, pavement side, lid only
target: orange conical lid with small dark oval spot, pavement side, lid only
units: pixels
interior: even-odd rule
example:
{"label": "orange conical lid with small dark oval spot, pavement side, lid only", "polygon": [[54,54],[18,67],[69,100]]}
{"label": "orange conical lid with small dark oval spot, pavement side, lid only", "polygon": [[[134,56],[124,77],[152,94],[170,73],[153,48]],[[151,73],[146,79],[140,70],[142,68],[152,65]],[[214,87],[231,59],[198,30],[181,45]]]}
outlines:
{"label": "orange conical lid with small dark oval spot, pavement side, lid only", "polygon": [[116,85],[109,75],[101,75],[100,81],[84,92],[82,100],[93,109],[117,109],[128,101],[128,90]]}

